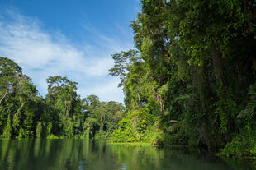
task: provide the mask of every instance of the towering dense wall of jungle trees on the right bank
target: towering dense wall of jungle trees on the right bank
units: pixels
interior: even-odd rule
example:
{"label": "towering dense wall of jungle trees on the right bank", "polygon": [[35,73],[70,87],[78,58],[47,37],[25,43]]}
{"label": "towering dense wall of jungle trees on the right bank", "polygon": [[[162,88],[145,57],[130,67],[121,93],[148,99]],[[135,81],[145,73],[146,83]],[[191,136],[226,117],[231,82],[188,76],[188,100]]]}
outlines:
{"label": "towering dense wall of jungle trees on the right bank", "polygon": [[141,0],[135,49],[112,55],[126,94],[114,141],[256,156],[256,2]]}

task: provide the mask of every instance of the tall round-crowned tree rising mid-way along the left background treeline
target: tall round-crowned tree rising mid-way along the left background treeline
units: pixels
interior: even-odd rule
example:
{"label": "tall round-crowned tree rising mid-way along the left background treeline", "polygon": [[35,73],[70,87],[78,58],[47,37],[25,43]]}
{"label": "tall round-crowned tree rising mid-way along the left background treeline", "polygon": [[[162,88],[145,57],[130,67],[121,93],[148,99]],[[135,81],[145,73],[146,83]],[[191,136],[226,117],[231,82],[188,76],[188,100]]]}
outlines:
{"label": "tall round-crowned tree rising mid-way along the left background treeline", "polygon": [[[66,77],[49,76],[47,79],[48,94],[46,103],[53,112],[52,121],[55,134],[64,132],[65,136],[72,137],[73,133],[72,117],[75,115],[75,108],[80,104],[80,99],[75,90],[77,83]],[[79,113],[78,113],[79,114]],[[70,119],[71,118],[71,119]]]}

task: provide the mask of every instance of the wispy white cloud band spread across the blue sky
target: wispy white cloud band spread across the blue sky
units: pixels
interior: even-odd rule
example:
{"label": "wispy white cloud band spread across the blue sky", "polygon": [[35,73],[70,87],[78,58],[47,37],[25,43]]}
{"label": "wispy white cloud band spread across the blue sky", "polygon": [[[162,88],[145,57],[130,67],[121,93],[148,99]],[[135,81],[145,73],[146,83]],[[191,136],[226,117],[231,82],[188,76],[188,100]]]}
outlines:
{"label": "wispy white cloud band spread across the blue sky", "polygon": [[0,18],[0,56],[23,67],[40,93],[46,94],[48,76],[60,75],[77,81],[82,97],[97,94],[102,100],[122,102],[118,81],[107,74],[113,65],[111,53],[132,48],[132,43],[93,32],[90,25],[87,29],[97,40],[94,44],[82,42],[78,48],[64,34],[42,29],[42,23],[35,18],[10,10],[0,13]]}

